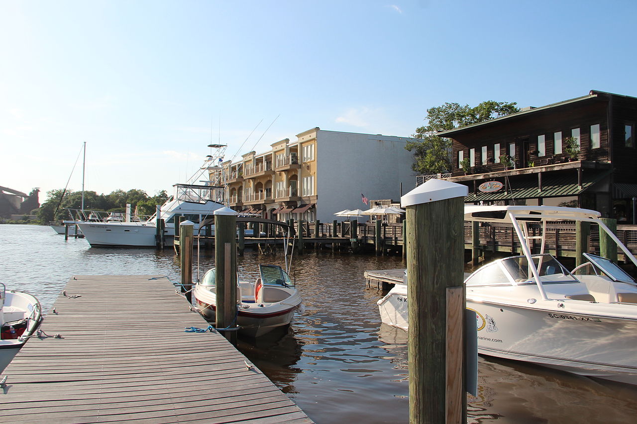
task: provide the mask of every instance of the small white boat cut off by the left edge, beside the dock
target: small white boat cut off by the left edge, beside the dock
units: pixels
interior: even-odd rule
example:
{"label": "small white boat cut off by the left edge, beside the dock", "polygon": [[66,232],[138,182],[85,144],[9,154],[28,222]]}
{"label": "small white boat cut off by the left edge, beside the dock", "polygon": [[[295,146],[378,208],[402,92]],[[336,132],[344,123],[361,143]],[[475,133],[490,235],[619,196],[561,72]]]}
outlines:
{"label": "small white boat cut off by the left edge, beside the dock", "polygon": [[7,291],[0,283],[0,371],[42,322],[42,308],[29,293]]}

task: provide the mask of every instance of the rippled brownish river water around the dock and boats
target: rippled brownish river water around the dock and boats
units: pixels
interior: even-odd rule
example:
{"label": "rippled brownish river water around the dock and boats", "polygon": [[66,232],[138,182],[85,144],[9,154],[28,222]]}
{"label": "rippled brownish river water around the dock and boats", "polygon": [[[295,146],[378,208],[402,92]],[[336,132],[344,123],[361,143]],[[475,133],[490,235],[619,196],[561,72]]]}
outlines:
{"label": "rippled brownish river water around the dock and boats", "polygon": [[[173,281],[172,250],[90,248],[50,227],[0,225],[0,282],[38,296],[45,311],[73,274],[159,274]],[[240,274],[283,255],[240,257]],[[201,269],[213,253],[201,254]],[[323,423],[407,423],[406,334],[380,323],[363,272],[404,267],[401,258],[333,254],[295,257],[306,311],[287,334],[243,340],[240,349],[313,420]],[[134,295],[134,293],[132,293]],[[480,357],[478,397],[468,398],[469,423],[634,423],[637,387],[592,380],[519,362]]]}

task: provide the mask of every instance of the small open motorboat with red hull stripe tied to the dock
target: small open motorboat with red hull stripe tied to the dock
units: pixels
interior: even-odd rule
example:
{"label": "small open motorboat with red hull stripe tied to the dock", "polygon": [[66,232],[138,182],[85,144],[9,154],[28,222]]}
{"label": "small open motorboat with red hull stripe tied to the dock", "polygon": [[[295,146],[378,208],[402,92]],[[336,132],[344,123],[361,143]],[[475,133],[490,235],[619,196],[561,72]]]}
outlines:
{"label": "small open motorboat with red hull stripe tied to the dock", "polygon": [[[238,281],[236,324],[240,334],[250,337],[289,325],[295,312],[303,313],[301,295],[282,267],[259,265],[259,275],[255,281]],[[210,322],[216,319],[215,276],[210,269],[193,290],[199,313]]]}

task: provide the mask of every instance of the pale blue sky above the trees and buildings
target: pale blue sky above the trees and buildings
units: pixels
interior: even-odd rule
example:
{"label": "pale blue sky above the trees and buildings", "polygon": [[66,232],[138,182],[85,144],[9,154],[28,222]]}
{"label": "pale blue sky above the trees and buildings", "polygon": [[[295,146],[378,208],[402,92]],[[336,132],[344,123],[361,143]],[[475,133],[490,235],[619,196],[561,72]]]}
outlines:
{"label": "pale blue sky above the trees and buildings", "polygon": [[447,101],[637,96],[636,16],[635,1],[0,1],[0,185],[63,188],[83,141],[87,190],[152,195],[211,140],[230,159],[313,127],[410,136]]}

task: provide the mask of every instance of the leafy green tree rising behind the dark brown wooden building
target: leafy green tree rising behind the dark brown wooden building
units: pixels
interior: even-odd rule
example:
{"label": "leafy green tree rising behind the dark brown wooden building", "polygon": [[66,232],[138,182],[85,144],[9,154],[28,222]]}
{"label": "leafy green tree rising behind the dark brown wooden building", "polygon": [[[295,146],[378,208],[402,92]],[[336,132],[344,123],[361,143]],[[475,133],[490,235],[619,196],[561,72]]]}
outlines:
{"label": "leafy green tree rising behind the dark brown wooden building", "polygon": [[405,148],[413,153],[413,171],[419,174],[447,173],[452,170],[451,140],[436,134],[440,131],[477,124],[519,111],[515,102],[484,101],[471,108],[468,104],[445,103],[427,109],[427,125],[418,127]]}

